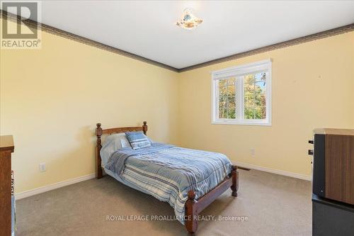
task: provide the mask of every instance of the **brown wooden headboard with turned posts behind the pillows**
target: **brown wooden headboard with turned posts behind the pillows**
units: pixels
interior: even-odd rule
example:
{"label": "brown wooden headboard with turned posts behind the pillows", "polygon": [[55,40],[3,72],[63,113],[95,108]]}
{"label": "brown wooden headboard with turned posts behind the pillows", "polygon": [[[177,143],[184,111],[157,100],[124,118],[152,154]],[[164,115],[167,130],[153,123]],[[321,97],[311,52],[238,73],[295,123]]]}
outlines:
{"label": "brown wooden headboard with turned posts behind the pillows", "polygon": [[131,131],[142,131],[144,135],[147,135],[147,122],[144,121],[142,126],[137,126],[137,127],[118,127],[118,128],[110,128],[110,129],[105,129],[103,130],[101,128],[101,123],[96,124],[96,136],[97,136],[97,141],[96,141],[96,178],[101,179],[102,178],[102,167],[101,167],[101,136],[102,135],[112,135],[114,133],[125,133],[125,132],[131,132]]}

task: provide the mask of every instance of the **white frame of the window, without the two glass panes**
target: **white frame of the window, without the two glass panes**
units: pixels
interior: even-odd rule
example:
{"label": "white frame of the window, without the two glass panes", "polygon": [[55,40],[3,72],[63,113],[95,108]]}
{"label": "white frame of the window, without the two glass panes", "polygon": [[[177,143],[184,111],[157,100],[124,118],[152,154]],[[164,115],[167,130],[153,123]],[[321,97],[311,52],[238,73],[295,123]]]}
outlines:
{"label": "white frame of the window, without the two glass panes", "polygon": [[[265,119],[244,119],[244,75],[266,72],[265,79]],[[236,118],[218,118],[218,81],[227,77],[236,77]],[[225,125],[272,125],[272,60],[262,60],[237,67],[219,69],[212,72],[212,124]]]}

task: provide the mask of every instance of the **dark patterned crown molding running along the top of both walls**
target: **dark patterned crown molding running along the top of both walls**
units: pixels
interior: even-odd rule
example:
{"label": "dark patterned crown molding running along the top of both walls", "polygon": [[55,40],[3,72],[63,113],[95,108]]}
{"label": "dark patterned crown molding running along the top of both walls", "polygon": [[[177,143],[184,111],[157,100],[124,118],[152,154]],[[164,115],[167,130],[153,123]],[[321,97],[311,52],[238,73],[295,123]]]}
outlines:
{"label": "dark patterned crown molding running along the top of both walls", "polygon": [[314,33],[312,35],[307,35],[307,36],[304,36],[304,37],[295,38],[295,39],[292,39],[292,40],[287,40],[287,41],[284,41],[284,42],[281,42],[281,43],[275,43],[273,45],[268,45],[268,46],[265,46],[265,47],[259,47],[259,48],[256,48],[256,49],[253,49],[253,50],[249,50],[249,51],[246,51],[246,52],[239,52],[239,53],[236,53],[234,55],[229,55],[227,57],[221,57],[221,58],[218,58],[218,59],[215,59],[215,60],[202,62],[200,64],[194,64],[194,65],[192,65],[190,67],[184,67],[184,68],[178,69],[176,67],[171,67],[168,64],[164,64],[164,63],[161,63],[161,62],[156,62],[156,61],[150,60],[150,59],[148,59],[146,57],[142,57],[142,56],[136,55],[134,53],[127,52],[125,50],[120,50],[120,49],[118,49],[116,47],[105,45],[103,43],[98,43],[95,40],[91,40],[89,38],[85,38],[85,37],[82,37],[82,36],[79,36],[79,35],[75,35],[74,33],[69,33],[69,32],[67,32],[65,30],[60,30],[58,28],[55,28],[55,27],[52,27],[52,26],[48,26],[48,25],[43,24],[43,23],[38,23],[37,21],[32,21],[30,19],[22,20],[21,16],[17,16],[17,15],[15,15],[13,13],[8,13],[7,11],[1,10],[1,9],[0,9],[0,12],[1,12],[1,14],[0,14],[1,18],[7,19],[7,20],[10,20],[10,21],[14,21],[14,22],[17,22],[18,20],[21,20],[21,21],[25,22],[28,26],[33,26],[33,27],[40,28],[42,31],[45,31],[47,33],[52,33],[54,35],[58,35],[58,36],[61,36],[63,38],[67,38],[69,40],[74,40],[74,41],[79,42],[79,43],[84,43],[86,45],[90,45],[90,46],[93,46],[93,47],[98,47],[98,48],[100,48],[102,50],[106,50],[108,52],[113,52],[113,53],[116,53],[118,55],[122,55],[122,56],[125,56],[125,57],[130,57],[132,59],[139,60],[141,62],[146,62],[146,63],[152,64],[152,65],[154,65],[156,67],[169,69],[169,70],[171,70],[173,72],[186,72],[188,70],[198,69],[200,67],[207,67],[207,66],[210,66],[212,64],[217,64],[217,63],[221,63],[221,62],[228,62],[228,61],[231,61],[231,60],[239,59],[241,57],[248,57],[248,56],[251,56],[251,55],[256,55],[256,54],[259,54],[259,53],[262,53],[262,52],[268,52],[268,51],[271,51],[271,50],[277,50],[277,49],[284,48],[284,47],[290,47],[290,46],[293,46],[293,45],[299,45],[299,44],[302,44],[302,43],[307,43],[307,42],[311,42],[311,41],[314,41],[314,40],[319,40],[319,39],[322,39],[322,38],[329,38],[329,37],[334,36],[334,35],[339,35],[339,34],[342,34],[342,33],[348,33],[350,31],[354,30],[354,23],[351,23],[351,24],[349,24],[347,26],[341,26],[341,27],[338,27],[338,28],[333,28],[331,30],[326,30],[326,31],[322,31],[322,32],[319,32],[319,33]]}

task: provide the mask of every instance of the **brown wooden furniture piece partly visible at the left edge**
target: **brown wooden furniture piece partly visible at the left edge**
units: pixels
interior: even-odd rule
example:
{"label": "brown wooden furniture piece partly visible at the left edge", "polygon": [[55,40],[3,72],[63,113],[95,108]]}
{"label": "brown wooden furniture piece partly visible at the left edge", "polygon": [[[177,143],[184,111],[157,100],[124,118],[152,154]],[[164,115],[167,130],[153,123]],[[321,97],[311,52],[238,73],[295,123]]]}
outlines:
{"label": "brown wooden furniture piece partly visible at the left edge", "polygon": [[11,135],[0,136],[0,235],[11,235]]}

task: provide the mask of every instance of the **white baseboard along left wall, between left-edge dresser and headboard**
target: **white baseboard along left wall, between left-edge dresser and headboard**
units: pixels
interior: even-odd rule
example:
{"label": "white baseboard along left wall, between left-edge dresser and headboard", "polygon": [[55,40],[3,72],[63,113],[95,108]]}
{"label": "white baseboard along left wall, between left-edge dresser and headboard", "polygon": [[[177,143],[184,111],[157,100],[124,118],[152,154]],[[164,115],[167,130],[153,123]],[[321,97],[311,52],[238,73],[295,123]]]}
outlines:
{"label": "white baseboard along left wall, between left-edge dresser and headboard", "polygon": [[77,177],[77,178],[74,178],[74,179],[68,179],[68,180],[65,180],[65,181],[57,182],[55,184],[50,184],[50,185],[42,186],[42,187],[39,187],[39,188],[36,188],[36,189],[30,189],[28,191],[23,191],[21,193],[15,193],[15,198],[16,198],[16,200],[21,199],[21,198],[27,198],[29,196],[33,196],[33,195],[36,195],[36,194],[39,194],[39,193],[44,193],[46,191],[50,191],[50,190],[53,190],[53,189],[59,189],[61,187],[68,186],[70,184],[76,184],[76,183],[79,183],[81,181],[85,181],[85,180],[88,180],[88,179],[93,179],[95,177],[96,177],[96,173],[87,174],[87,175],[80,176],[80,177]]}

